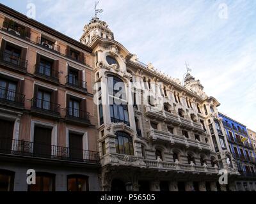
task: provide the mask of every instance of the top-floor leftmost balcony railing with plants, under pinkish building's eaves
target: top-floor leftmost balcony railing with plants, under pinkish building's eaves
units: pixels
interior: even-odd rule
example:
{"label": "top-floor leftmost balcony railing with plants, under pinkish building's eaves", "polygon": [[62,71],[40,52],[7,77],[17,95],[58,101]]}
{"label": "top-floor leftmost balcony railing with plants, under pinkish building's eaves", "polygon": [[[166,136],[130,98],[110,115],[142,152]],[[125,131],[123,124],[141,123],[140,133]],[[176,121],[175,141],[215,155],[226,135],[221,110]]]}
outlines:
{"label": "top-floor leftmost balcony railing with plants, under pinkish building's eaves", "polygon": [[19,36],[20,38],[24,38],[26,40],[29,40],[30,38],[30,32],[26,31],[25,27],[22,25],[17,24],[10,21],[10,22],[3,22],[3,29],[5,29],[8,33],[13,34],[15,36]]}

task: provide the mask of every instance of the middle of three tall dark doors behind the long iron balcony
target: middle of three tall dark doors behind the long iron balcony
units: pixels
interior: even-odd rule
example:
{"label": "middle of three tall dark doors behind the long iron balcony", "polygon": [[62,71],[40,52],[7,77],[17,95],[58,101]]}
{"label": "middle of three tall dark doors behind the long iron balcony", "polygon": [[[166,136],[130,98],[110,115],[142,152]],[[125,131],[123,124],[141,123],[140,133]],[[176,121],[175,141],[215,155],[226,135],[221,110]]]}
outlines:
{"label": "middle of three tall dark doors behind the long iron balcony", "polygon": [[35,156],[51,156],[52,129],[35,126],[33,153]]}

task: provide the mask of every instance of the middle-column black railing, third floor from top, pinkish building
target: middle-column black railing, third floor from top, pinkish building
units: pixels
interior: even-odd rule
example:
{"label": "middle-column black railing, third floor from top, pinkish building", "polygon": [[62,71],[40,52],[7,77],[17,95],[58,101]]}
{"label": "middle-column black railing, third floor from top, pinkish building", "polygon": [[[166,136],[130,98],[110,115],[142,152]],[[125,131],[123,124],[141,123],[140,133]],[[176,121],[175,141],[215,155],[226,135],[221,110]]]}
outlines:
{"label": "middle-column black railing, third floor from top, pinkish building", "polygon": [[32,98],[31,108],[44,113],[54,113],[60,115],[60,104],[52,103],[51,101],[45,101],[43,99]]}

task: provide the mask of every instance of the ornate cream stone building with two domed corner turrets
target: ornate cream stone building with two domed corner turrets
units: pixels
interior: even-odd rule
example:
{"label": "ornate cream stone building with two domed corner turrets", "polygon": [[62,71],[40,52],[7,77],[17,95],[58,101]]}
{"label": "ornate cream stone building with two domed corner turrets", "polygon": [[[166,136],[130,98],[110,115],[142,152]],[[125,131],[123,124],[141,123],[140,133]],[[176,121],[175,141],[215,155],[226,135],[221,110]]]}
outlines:
{"label": "ornate cream stone building with two domed corner turrets", "polygon": [[102,191],[236,191],[220,103],[199,80],[188,73],[182,85],[138,61],[97,17],[80,41],[95,55]]}

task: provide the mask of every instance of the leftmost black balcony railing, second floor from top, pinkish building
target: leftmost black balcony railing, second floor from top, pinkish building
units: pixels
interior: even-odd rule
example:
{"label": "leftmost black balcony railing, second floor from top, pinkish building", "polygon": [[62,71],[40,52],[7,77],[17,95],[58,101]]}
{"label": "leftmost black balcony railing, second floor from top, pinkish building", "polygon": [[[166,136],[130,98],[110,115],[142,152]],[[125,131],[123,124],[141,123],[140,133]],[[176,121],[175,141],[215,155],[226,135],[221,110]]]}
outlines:
{"label": "leftmost black balcony railing, second floor from top, pinkish building", "polygon": [[26,59],[22,59],[8,52],[0,52],[0,61],[4,62],[4,64],[10,65],[11,68],[19,69],[20,71],[27,70],[28,61]]}

